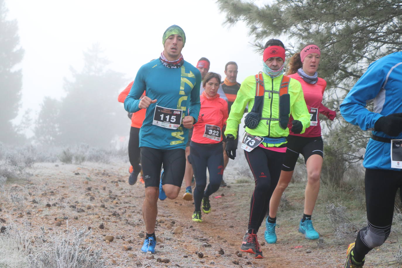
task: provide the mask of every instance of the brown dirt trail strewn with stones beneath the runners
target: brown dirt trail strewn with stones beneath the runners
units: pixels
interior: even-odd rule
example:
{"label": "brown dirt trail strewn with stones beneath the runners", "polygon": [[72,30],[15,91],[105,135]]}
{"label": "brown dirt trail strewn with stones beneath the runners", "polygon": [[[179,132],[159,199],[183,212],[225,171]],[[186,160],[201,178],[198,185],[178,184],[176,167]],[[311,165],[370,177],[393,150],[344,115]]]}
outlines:
{"label": "brown dirt trail strewn with stones beneath the runners", "polygon": [[[345,257],[342,247],[320,248],[316,241],[304,239],[296,226],[277,229],[278,243],[262,246],[264,259],[237,255],[253,186],[235,184],[233,174],[225,177],[231,187],[211,196],[212,211],[203,214],[202,223],[191,221],[193,205],[181,198],[183,188],[176,200],[159,201],[156,235],[161,242],[156,254],[145,256],[139,252],[145,231],[141,214],[144,185],[128,185],[126,163],[38,163],[31,172],[29,183],[6,185],[0,218],[10,217],[19,224],[29,221],[33,233],[40,233],[41,226],[47,234],[59,233],[66,229],[67,221],[74,227],[86,225],[92,228],[93,237],[84,245],[102,246],[109,267],[340,267]],[[23,196],[17,203],[10,198],[16,193]],[[68,220],[60,219],[64,217]],[[177,227],[183,228],[182,233],[173,233]],[[260,243],[264,231],[263,223]],[[107,243],[105,235],[115,239]],[[218,253],[221,248],[224,255]],[[308,250],[312,252],[306,253]],[[202,252],[203,258],[195,252]],[[168,263],[160,262],[166,259]]]}

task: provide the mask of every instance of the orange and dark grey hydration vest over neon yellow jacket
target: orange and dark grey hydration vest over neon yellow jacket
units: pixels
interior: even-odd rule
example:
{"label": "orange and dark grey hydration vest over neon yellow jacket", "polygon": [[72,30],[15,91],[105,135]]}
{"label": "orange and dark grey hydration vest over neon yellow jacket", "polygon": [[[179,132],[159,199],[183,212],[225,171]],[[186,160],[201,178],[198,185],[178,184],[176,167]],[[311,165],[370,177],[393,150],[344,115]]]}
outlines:
{"label": "orange and dark grey hydration vest over neon yellow jacket", "polygon": [[[288,93],[290,78],[288,76],[283,76],[281,80],[281,85],[279,87],[279,91],[276,90],[265,90],[264,87],[264,78],[263,73],[259,72],[255,75],[255,97],[254,97],[254,105],[251,111],[246,115],[244,119],[245,125],[250,129],[255,129],[260,123],[260,120],[267,120],[267,125],[269,121],[279,121],[279,126],[282,129],[287,128],[287,124],[289,122],[289,114],[290,114],[290,95]],[[263,106],[264,106],[264,94],[265,92],[269,92],[269,94],[279,94],[279,118],[264,118],[263,114]]]}

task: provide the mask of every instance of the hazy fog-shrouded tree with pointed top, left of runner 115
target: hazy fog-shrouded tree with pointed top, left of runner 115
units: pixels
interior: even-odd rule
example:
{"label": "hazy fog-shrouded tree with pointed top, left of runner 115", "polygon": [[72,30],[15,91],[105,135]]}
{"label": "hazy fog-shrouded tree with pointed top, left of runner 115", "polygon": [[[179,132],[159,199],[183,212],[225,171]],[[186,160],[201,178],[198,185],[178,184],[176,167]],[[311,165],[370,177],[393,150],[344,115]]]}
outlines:
{"label": "hazy fog-shrouded tree with pointed top, left of runner 115", "polygon": [[95,44],[84,52],[82,72],[71,69],[59,107],[59,143],[108,147],[115,135],[127,132],[126,113],[117,102],[123,74],[107,69],[109,63]]}

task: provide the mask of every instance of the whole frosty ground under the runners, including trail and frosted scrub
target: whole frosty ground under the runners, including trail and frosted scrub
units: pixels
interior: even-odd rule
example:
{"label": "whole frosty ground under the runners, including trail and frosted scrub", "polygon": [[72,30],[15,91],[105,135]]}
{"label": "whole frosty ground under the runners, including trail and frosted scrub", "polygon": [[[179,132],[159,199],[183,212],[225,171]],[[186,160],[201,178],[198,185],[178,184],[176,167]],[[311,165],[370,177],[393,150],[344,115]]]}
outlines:
{"label": "whole frosty ground under the runners, including trail and frosted scrub", "polygon": [[[64,254],[80,259],[76,267],[342,267],[347,244],[365,223],[364,195],[348,199],[355,189],[322,188],[313,214],[320,239],[307,240],[297,231],[305,182],[294,182],[278,213],[278,242],[264,243],[263,223],[258,240],[265,258],[255,260],[239,252],[254,188],[244,164],[225,171],[230,188],[211,196],[212,211],[202,223],[191,221],[194,207],[181,198],[184,187],[176,200],[158,201],[156,253],[145,255],[144,184],[127,183],[126,162],[35,163],[28,180],[8,180],[1,191],[0,267],[53,267],[50,259],[61,257],[50,252],[60,251],[60,241],[62,249],[66,241],[72,245]],[[367,264],[400,266],[401,222],[396,213],[390,238]]]}

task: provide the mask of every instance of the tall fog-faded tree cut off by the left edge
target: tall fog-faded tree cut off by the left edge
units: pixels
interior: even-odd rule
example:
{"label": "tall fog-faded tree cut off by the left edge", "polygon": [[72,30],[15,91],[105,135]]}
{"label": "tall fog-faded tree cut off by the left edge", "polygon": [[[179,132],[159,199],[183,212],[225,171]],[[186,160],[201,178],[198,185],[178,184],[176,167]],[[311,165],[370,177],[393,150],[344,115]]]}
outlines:
{"label": "tall fog-faded tree cut off by the left edge", "polygon": [[22,72],[16,65],[24,50],[19,46],[17,21],[7,20],[7,12],[4,0],[0,0],[0,141],[10,143],[19,136],[11,120],[20,107]]}

